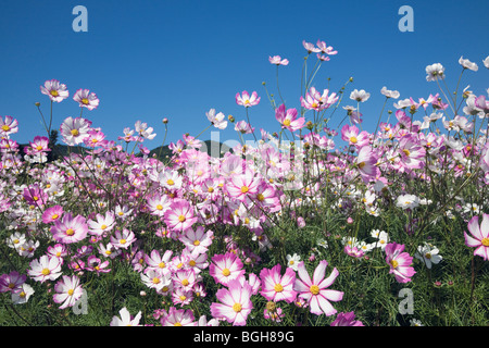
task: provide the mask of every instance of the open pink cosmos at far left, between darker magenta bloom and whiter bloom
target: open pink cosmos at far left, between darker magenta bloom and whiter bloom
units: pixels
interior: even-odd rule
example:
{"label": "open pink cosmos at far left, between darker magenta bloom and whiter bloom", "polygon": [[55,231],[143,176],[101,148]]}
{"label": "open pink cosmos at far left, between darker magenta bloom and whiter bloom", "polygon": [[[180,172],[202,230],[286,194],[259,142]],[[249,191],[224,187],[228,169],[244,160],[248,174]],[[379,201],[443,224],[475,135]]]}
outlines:
{"label": "open pink cosmos at far left, between darker magenta bloom and whiter bloom", "polygon": [[72,213],[66,213],[61,220],[54,222],[50,231],[54,240],[63,244],[72,244],[85,239],[88,233],[88,226],[84,216],[76,215],[73,217]]}

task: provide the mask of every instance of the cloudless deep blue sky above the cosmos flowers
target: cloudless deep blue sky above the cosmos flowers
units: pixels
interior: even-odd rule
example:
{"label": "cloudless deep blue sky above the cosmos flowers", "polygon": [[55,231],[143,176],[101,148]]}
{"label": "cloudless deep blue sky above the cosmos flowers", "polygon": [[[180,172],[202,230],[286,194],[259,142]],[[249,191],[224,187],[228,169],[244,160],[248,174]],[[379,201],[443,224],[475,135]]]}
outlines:
{"label": "cloudless deep blue sky above the cosmos flowers", "polygon": [[[75,33],[75,5],[88,10],[88,33]],[[414,10],[414,32],[401,33],[401,5]],[[268,57],[279,54],[290,63],[280,67],[281,94],[288,107],[300,108],[300,74],[305,50],[302,40],[326,41],[338,54],[325,62],[315,87],[339,89],[353,76],[354,88],[372,94],[361,105],[364,127],[375,128],[384,102],[380,88],[397,89],[401,99],[427,98],[439,91],[427,83],[425,67],[446,66],[447,83],[454,88],[461,55],[479,65],[466,72],[461,87],[482,94],[489,71],[489,1],[166,1],[166,0],[16,0],[0,2],[0,115],[20,122],[18,142],[45,135],[35,102],[49,114],[48,97],[39,86],[47,79],[67,85],[70,98],[54,104],[53,125],[78,116],[72,97],[88,88],[100,98],[84,116],[116,139],[137,120],[153,126],[158,136],[148,148],[161,145],[163,117],[170,120],[168,141],[184,133],[197,135],[214,108],[238,121],[244,109],[236,92],[256,90],[262,97],[250,109],[256,129],[277,130],[262,82],[276,94],[275,66]],[[312,59],[311,62],[314,62]],[[310,63],[312,64],[312,63]],[[311,65],[312,67],[312,65]],[[311,69],[310,67],[310,69]],[[351,103],[344,98],[343,105]],[[393,110],[392,103],[387,109]],[[386,109],[386,110],[387,110]],[[335,125],[343,116],[336,114]],[[208,139],[210,133],[201,136]],[[221,140],[237,139],[233,127]]]}

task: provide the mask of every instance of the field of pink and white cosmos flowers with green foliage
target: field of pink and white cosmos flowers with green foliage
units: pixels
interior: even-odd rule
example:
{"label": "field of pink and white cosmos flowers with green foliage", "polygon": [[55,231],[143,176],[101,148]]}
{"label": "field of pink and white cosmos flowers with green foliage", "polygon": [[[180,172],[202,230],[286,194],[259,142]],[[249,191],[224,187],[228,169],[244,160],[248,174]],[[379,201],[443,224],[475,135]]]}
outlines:
{"label": "field of pink and white cosmos flowers with green foliage", "polygon": [[[383,88],[368,132],[371,94],[315,87],[337,51],[303,49],[293,102],[238,92],[246,117],[211,109],[166,157],[147,144],[172,120],[108,139],[97,95],[55,79],[29,144],[1,116],[0,325],[488,325],[489,90],[448,90],[428,65],[434,94]],[[288,63],[269,57],[277,76]],[[459,63],[464,79],[487,73]],[[255,129],[265,99],[276,128]],[[60,102],[79,115],[57,123]],[[229,151],[200,139],[228,127]]]}

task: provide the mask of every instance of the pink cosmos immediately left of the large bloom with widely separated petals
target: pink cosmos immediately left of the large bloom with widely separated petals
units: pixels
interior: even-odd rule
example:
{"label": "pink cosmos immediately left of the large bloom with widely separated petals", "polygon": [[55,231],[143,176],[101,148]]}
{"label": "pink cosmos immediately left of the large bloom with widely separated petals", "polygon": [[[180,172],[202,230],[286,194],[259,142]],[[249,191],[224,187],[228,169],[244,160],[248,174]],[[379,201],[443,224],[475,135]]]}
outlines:
{"label": "pink cosmos immediately left of the large bloom with widely separated petals", "polygon": [[286,301],[287,303],[296,300],[297,291],[293,289],[296,283],[296,272],[287,268],[284,275],[280,275],[280,265],[277,264],[271,270],[263,269],[260,272],[262,290],[260,294],[268,301]]}

